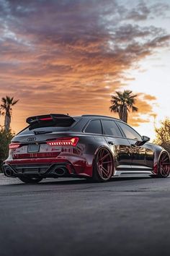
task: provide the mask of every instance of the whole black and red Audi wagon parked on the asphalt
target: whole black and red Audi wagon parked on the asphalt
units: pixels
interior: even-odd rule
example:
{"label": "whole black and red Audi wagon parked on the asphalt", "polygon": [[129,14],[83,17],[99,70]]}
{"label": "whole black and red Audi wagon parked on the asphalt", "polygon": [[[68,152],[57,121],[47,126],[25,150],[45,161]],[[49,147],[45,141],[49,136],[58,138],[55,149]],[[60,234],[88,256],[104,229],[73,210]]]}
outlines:
{"label": "whole black and red Audi wagon parked on the asphalt", "polygon": [[169,176],[169,153],[119,119],[47,114],[31,116],[27,123],[12,139],[4,161],[4,174],[22,182],[48,177],[107,182],[125,174]]}

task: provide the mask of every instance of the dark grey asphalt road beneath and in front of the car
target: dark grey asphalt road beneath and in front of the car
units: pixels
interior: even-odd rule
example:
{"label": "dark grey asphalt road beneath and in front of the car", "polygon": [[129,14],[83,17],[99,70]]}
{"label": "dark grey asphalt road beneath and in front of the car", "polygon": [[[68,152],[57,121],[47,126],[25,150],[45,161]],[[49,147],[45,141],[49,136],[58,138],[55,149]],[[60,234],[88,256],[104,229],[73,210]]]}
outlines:
{"label": "dark grey asphalt road beneath and in front of the car", "polygon": [[170,179],[104,184],[0,174],[0,255],[170,255]]}

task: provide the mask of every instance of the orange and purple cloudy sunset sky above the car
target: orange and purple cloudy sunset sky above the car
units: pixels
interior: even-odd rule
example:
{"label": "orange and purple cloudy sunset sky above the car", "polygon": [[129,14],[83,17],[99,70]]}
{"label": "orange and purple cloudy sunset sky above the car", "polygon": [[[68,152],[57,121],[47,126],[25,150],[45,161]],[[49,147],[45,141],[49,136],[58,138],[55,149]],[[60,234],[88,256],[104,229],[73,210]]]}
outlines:
{"label": "orange and purple cloudy sunset sky above the car", "polygon": [[[138,94],[129,123],[154,137],[169,116],[170,1],[0,0],[0,98],[27,116],[109,112],[115,90]],[[1,116],[0,123],[4,123]]]}

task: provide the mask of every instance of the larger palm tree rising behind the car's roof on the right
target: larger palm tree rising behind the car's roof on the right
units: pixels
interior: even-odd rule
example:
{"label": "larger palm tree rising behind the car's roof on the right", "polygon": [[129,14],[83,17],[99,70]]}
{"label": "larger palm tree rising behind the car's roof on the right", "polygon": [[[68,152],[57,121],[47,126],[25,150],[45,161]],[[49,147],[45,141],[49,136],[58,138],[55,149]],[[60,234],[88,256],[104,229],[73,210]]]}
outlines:
{"label": "larger palm tree rising behind the car's roof on the right", "polygon": [[134,106],[137,95],[132,95],[132,90],[124,90],[111,95],[112,106],[109,107],[111,112],[118,113],[122,121],[128,122],[128,112],[137,112],[138,108]]}

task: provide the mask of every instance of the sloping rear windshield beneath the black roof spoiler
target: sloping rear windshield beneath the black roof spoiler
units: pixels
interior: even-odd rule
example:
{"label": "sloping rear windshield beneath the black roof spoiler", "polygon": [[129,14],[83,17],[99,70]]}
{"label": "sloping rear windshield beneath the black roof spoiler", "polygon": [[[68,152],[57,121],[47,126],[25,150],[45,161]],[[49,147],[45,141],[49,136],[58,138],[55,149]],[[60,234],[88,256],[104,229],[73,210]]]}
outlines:
{"label": "sloping rear windshield beneath the black roof spoiler", "polygon": [[24,128],[18,135],[27,135],[35,132],[64,132],[71,129],[79,121],[79,118],[74,118],[71,121],[61,121],[60,123],[55,124],[54,122],[48,121],[43,124],[33,124]]}

